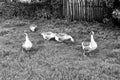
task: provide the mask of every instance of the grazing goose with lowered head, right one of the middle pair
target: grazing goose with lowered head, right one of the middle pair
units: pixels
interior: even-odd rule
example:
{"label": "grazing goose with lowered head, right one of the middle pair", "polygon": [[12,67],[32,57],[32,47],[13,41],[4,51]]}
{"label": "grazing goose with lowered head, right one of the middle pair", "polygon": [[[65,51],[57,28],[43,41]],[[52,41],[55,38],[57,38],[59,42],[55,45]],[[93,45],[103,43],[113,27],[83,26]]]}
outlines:
{"label": "grazing goose with lowered head, right one of the middle pair", "polygon": [[55,36],[56,41],[58,42],[62,42],[65,40],[71,40],[72,42],[74,42],[74,39],[72,38],[72,36],[66,34],[66,33],[58,33]]}

